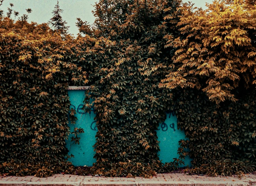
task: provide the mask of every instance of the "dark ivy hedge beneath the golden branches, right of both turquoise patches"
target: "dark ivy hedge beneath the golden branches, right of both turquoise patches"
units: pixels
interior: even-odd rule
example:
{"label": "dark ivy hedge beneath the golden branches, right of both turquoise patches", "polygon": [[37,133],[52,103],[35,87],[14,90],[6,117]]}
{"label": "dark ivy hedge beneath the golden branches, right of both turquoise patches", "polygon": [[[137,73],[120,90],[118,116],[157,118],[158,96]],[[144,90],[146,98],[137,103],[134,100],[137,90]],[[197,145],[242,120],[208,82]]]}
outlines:
{"label": "dark ivy hedge beneath the golden branches, right of both turquoise patches", "polygon": [[196,90],[175,92],[178,128],[185,131],[191,173],[232,175],[256,170],[255,89],[237,92],[237,102],[217,105]]}

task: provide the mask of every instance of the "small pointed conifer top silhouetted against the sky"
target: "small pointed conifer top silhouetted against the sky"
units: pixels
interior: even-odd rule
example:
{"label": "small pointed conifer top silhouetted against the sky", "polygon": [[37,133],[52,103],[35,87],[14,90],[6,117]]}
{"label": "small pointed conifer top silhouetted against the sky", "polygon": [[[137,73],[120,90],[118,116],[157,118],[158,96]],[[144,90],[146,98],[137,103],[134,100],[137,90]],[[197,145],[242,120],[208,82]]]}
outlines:
{"label": "small pointed conifer top silhouetted against the sky", "polygon": [[67,22],[62,19],[62,16],[60,13],[63,13],[63,10],[59,8],[59,1],[57,1],[57,4],[54,7],[53,10],[53,17],[50,20],[50,24],[56,30],[57,32],[62,35],[63,38],[66,38],[68,35],[68,28],[69,26],[66,26]]}

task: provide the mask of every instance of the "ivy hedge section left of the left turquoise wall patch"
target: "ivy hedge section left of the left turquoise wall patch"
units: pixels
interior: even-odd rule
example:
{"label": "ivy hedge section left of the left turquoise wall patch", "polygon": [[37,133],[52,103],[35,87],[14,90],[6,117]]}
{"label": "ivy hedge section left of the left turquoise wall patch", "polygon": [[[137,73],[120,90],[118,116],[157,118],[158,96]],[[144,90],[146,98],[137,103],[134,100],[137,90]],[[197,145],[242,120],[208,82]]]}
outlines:
{"label": "ivy hedge section left of the left turquoise wall patch", "polygon": [[4,18],[0,26],[0,172],[68,171],[66,88],[85,77],[72,64],[74,44],[63,42],[46,24]]}

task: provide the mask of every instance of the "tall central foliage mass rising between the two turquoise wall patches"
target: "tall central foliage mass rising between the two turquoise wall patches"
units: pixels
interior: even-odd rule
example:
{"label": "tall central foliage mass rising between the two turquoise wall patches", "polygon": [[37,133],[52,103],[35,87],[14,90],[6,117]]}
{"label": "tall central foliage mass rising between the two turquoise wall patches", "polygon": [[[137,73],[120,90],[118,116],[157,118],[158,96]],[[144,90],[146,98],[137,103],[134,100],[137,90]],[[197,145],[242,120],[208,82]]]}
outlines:
{"label": "tall central foliage mass rising between the two turquoise wall patches", "polygon": [[[93,47],[86,48],[92,50],[86,62],[91,65],[88,96],[95,100],[98,128],[96,172],[112,176],[152,175],[163,166],[157,154],[156,130],[165,120],[165,112],[171,109],[168,104],[171,91],[158,87],[167,74],[172,55],[164,48],[164,36],[174,30],[174,24],[163,20],[176,17],[179,2],[100,1],[99,4],[97,31],[91,34]],[[110,14],[117,9],[126,14],[120,17]],[[103,24],[106,17],[109,21]],[[90,108],[89,101],[87,107]],[[127,168],[128,172],[118,171],[119,166],[127,163],[139,165],[140,171],[133,168]]]}

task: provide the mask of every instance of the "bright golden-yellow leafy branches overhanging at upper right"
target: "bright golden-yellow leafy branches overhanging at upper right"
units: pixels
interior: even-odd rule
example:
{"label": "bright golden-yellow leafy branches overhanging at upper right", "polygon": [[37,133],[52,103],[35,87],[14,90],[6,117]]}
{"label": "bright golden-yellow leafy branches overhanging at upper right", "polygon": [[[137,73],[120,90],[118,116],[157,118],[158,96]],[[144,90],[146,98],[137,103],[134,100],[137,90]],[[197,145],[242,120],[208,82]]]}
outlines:
{"label": "bright golden-yellow leafy branches overhanging at upper right", "polygon": [[160,87],[192,87],[217,103],[236,101],[237,87],[256,83],[256,5],[253,1],[214,1],[208,9],[180,7],[177,23],[181,35],[168,39],[176,48],[172,70]]}

